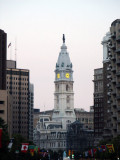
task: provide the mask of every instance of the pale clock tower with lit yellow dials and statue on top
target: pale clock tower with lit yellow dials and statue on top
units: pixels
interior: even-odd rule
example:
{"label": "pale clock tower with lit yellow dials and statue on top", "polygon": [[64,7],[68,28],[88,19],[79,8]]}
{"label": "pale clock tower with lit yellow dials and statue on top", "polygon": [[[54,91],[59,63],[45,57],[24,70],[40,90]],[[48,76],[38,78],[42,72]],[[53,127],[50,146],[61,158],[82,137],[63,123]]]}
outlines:
{"label": "pale clock tower with lit yellow dials and statue on top", "polygon": [[59,53],[55,68],[55,92],[54,92],[54,112],[52,119],[61,121],[63,129],[67,124],[75,121],[74,113],[74,92],[73,92],[73,70],[65,36],[63,34],[63,44]]}

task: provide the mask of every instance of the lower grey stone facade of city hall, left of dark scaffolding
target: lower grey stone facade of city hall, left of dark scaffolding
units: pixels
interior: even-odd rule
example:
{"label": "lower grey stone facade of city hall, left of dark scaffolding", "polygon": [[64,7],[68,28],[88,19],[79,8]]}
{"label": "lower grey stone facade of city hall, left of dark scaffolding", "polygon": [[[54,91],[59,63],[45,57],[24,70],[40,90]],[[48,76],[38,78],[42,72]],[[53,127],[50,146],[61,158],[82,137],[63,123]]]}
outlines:
{"label": "lower grey stone facade of city hall, left of dark scaffolding", "polygon": [[34,143],[41,149],[65,150],[66,130],[62,129],[61,122],[50,121],[50,115],[40,115],[34,131]]}

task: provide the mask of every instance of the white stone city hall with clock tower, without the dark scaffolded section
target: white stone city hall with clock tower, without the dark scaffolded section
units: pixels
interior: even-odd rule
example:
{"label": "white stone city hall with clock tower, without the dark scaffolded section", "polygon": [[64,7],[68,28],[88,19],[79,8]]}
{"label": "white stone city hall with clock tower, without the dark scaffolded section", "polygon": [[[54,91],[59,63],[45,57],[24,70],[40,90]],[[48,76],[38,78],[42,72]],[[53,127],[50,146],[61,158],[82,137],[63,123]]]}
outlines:
{"label": "white stone city hall with clock tower, without the dark scaffolded section", "polygon": [[34,143],[46,150],[66,150],[67,125],[76,120],[74,112],[73,70],[65,37],[55,68],[54,111],[52,121],[49,115],[40,115]]}

